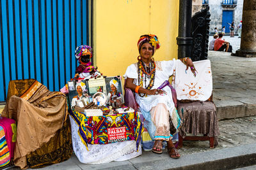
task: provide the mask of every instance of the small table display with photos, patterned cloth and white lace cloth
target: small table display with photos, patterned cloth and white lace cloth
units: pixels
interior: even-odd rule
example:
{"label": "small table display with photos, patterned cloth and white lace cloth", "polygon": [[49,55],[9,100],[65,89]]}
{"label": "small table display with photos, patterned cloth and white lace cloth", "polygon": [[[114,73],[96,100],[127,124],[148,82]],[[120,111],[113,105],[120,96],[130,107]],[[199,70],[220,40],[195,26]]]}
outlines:
{"label": "small table display with photos, patterned cloth and white lace cloth", "polygon": [[68,81],[73,150],[80,162],[100,164],[141,155],[140,116],[124,106],[120,78]]}

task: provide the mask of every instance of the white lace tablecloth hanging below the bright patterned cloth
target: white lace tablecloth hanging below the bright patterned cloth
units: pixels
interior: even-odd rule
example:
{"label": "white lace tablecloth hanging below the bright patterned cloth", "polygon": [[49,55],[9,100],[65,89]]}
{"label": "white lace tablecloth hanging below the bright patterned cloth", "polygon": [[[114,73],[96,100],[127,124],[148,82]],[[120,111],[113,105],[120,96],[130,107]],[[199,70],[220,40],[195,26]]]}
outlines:
{"label": "white lace tablecloth hanging below the bright patterned cloth", "polygon": [[79,161],[84,164],[102,164],[113,160],[124,161],[141,155],[141,145],[137,152],[136,141],[123,141],[107,145],[88,145],[88,151],[77,133],[78,125],[72,117],[70,117],[70,123],[73,150]]}

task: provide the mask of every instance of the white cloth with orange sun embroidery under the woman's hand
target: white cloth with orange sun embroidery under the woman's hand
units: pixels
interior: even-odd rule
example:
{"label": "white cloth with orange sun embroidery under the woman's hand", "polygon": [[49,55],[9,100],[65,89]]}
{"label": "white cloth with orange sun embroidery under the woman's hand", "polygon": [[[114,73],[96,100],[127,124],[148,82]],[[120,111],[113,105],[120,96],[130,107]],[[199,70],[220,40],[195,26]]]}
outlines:
{"label": "white cloth with orange sun embroidery under the woman's hand", "polygon": [[196,77],[191,69],[186,71],[186,65],[180,60],[176,62],[175,80],[173,87],[178,100],[206,101],[212,94],[212,71],[210,60],[193,62]]}

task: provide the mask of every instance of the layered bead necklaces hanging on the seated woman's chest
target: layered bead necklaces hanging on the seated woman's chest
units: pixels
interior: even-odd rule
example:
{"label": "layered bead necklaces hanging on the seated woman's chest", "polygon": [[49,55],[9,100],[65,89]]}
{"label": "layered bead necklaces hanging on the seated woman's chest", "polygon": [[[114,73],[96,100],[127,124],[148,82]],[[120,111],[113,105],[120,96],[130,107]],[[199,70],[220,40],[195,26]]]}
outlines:
{"label": "layered bead necklaces hanging on the seated woman's chest", "polygon": [[[144,81],[144,87],[145,89],[152,89],[154,86],[154,81],[155,81],[155,76],[156,76],[156,62],[154,59],[152,59],[149,63],[149,71],[147,72],[147,66],[146,64],[142,61],[138,61],[138,84],[140,87],[143,87],[143,81]],[[147,85],[147,78],[149,78],[149,83]],[[147,97],[147,94],[142,94],[139,93],[140,97]]]}

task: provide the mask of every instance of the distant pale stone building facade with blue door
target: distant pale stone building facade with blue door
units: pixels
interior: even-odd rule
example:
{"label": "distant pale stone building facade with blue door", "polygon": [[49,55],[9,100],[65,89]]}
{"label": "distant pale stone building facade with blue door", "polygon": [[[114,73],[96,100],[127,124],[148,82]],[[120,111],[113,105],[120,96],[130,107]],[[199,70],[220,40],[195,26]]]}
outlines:
{"label": "distant pale stone building facade with blue door", "polygon": [[203,8],[210,7],[211,22],[210,34],[214,34],[214,27],[221,28],[225,26],[225,33],[229,34],[229,24],[234,21],[235,33],[237,32],[237,25],[242,20],[243,15],[243,0],[202,0]]}

